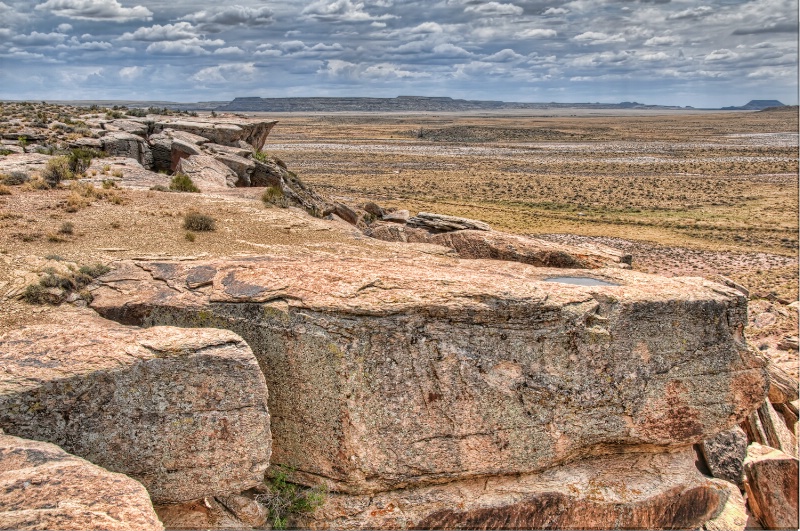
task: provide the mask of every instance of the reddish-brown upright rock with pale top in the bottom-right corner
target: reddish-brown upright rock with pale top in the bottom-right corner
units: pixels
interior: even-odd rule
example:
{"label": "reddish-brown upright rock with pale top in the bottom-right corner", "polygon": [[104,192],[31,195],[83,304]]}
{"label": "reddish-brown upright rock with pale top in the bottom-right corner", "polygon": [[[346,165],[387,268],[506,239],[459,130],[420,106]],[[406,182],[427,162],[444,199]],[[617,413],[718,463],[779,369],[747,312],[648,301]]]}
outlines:
{"label": "reddish-brown upright rock with pale top in the bottom-right corner", "polygon": [[747,504],[761,525],[797,529],[797,458],[753,443],[747,449],[744,472]]}

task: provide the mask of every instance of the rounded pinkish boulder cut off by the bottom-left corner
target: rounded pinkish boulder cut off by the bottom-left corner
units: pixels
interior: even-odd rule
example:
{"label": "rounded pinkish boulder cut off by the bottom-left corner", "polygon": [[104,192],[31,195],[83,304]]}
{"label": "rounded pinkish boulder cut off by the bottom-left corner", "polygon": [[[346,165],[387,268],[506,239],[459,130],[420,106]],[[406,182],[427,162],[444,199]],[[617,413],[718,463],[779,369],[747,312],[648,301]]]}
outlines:
{"label": "rounded pinkish boulder cut off by the bottom-left corner", "polygon": [[0,529],[162,531],[141,483],[54,444],[0,434]]}

